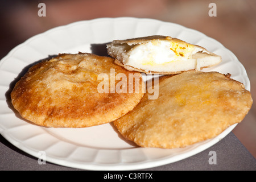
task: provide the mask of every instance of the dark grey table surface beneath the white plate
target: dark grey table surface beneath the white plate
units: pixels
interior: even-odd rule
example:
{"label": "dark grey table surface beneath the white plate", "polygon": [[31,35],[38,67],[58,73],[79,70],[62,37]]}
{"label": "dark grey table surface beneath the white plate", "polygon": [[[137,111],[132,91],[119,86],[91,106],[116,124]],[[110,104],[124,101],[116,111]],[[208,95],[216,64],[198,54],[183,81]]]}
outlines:
{"label": "dark grey table surface beneath the white plate", "polygon": [[[0,135],[0,169],[9,170],[81,170],[52,164],[46,161],[46,164],[39,164],[38,159],[19,150]],[[211,160],[212,153],[216,154],[216,160]],[[216,164],[210,164],[215,161]],[[256,171],[256,159],[242,145],[240,140],[231,132],[220,142],[207,148],[199,154],[180,160],[175,163],[166,164],[154,168],[141,169],[147,171],[168,171],[168,170],[246,170]]]}

